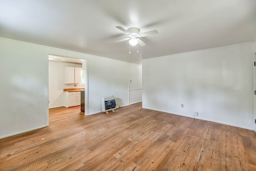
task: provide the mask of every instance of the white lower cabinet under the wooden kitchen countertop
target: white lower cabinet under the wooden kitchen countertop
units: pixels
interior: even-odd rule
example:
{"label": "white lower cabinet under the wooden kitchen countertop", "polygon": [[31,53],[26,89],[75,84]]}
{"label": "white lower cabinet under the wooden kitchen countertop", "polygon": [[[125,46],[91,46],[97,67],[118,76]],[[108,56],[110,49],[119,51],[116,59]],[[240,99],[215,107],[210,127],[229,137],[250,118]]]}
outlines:
{"label": "white lower cabinet under the wooden kitchen countertop", "polygon": [[81,105],[81,91],[68,92],[65,91],[65,107],[73,107]]}

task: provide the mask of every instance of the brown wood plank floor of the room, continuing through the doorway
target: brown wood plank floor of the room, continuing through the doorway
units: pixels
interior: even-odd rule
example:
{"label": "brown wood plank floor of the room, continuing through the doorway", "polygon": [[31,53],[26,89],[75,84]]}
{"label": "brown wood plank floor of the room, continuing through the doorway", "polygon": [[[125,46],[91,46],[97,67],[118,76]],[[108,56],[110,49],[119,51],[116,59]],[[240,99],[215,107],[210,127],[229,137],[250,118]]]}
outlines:
{"label": "brown wood plank floor of the room, continuing through the doorway", "polygon": [[52,109],[48,127],[0,139],[0,170],[256,171],[254,131],[141,105]]}

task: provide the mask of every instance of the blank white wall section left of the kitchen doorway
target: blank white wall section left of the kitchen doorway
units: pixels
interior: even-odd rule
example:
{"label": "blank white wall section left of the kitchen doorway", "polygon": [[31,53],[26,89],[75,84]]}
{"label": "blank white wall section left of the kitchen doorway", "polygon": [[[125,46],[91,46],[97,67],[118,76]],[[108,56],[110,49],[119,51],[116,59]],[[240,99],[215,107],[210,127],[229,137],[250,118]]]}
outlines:
{"label": "blank white wall section left of the kitchen doorway", "polygon": [[0,138],[44,127],[44,48],[0,39],[0,59]]}

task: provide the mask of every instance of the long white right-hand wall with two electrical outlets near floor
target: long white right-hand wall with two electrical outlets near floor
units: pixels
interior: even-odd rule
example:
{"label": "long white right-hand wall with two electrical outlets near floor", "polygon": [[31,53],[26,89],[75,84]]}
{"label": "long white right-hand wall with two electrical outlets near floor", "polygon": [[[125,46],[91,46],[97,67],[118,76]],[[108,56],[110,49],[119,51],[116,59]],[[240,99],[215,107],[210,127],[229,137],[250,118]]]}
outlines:
{"label": "long white right-hand wall with two electrical outlets near floor", "polygon": [[143,60],[143,107],[253,129],[252,58],[248,43]]}

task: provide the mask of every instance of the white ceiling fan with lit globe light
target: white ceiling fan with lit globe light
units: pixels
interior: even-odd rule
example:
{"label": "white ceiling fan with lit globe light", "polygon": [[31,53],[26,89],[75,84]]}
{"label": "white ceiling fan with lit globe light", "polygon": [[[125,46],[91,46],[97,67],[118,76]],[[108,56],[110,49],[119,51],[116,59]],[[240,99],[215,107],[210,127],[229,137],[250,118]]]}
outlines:
{"label": "white ceiling fan with lit globe light", "polygon": [[150,36],[150,35],[153,35],[153,34],[158,34],[157,30],[152,30],[152,31],[149,31],[149,32],[144,32],[144,33],[139,34],[140,30],[138,28],[129,28],[128,30],[125,30],[121,26],[116,26],[116,28],[118,28],[119,30],[121,30],[122,32],[127,34],[129,36],[129,38],[118,40],[118,41],[115,41],[114,43],[122,42],[122,41],[130,39],[129,44],[132,45],[132,46],[135,46],[136,44],[139,44],[140,46],[145,46],[146,44],[144,42],[142,42],[142,40],[140,40],[139,38],[145,37],[145,36]]}

